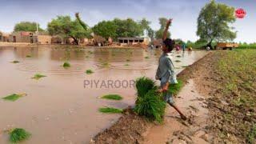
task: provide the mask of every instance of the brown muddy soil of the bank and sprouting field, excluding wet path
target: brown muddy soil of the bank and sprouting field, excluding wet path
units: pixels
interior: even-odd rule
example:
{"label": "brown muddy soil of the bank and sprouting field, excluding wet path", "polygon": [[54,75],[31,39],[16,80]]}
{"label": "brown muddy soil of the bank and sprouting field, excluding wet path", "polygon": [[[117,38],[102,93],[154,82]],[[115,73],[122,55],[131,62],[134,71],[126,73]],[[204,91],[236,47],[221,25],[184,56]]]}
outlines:
{"label": "brown muddy soil of the bank and sprouting field, excluding wet path", "polygon": [[[188,121],[180,121],[187,125],[186,129],[169,134],[171,138],[166,142],[175,143],[176,137],[182,139],[182,143],[195,143],[192,133],[202,138],[199,143],[255,142],[256,78],[251,76],[256,70],[255,51],[242,52],[243,56],[239,51],[212,52],[178,74],[183,82],[193,79],[195,89],[204,96],[199,101],[206,104],[208,116],[203,125],[196,127],[198,131],[193,131],[194,117],[189,115]],[[98,134],[94,143],[143,143],[148,130],[154,130],[150,127],[152,124],[145,118],[134,113],[124,114],[114,126]]]}

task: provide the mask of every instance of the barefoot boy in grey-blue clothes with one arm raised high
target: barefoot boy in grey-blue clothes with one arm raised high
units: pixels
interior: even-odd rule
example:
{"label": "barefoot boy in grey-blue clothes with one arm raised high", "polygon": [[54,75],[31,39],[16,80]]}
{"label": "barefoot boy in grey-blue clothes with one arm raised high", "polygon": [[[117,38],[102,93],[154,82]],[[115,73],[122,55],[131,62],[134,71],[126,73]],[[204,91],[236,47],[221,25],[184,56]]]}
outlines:
{"label": "barefoot boy in grey-blue clothes with one arm raised high", "polygon": [[174,65],[171,62],[170,55],[171,51],[174,49],[175,42],[174,40],[171,40],[170,38],[166,38],[167,30],[169,29],[170,23],[172,19],[169,19],[166,22],[166,30],[163,33],[162,36],[162,55],[159,58],[159,64],[158,64],[158,70],[156,73],[156,79],[159,79],[161,81],[161,89],[159,90],[164,94],[165,101],[172,107],[174,107],[175,110],[178,111],[178,114],[181,115],[181,118],[183,120],[186,120],[186,116],[182,114],[182,112],[178,109],[177,106],[174,104],[174,100],[172,98],[172,94],[168,92],[168,87],[170,82],[177,83],[177,80],[175,79],[174,74]]}

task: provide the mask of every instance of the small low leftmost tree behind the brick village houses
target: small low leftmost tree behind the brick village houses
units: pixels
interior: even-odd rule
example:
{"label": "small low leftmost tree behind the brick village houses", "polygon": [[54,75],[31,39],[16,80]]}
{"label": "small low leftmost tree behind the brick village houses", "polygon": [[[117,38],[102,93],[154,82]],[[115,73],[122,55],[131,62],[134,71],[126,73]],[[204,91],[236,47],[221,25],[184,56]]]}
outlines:
{"label": "small low leftmost tree behind the brick village houses", "polygon": [[[36,22],[19,22],[14,26],[14,31],[37,31]],[[38,31],[44,31],[38,24]]]}

